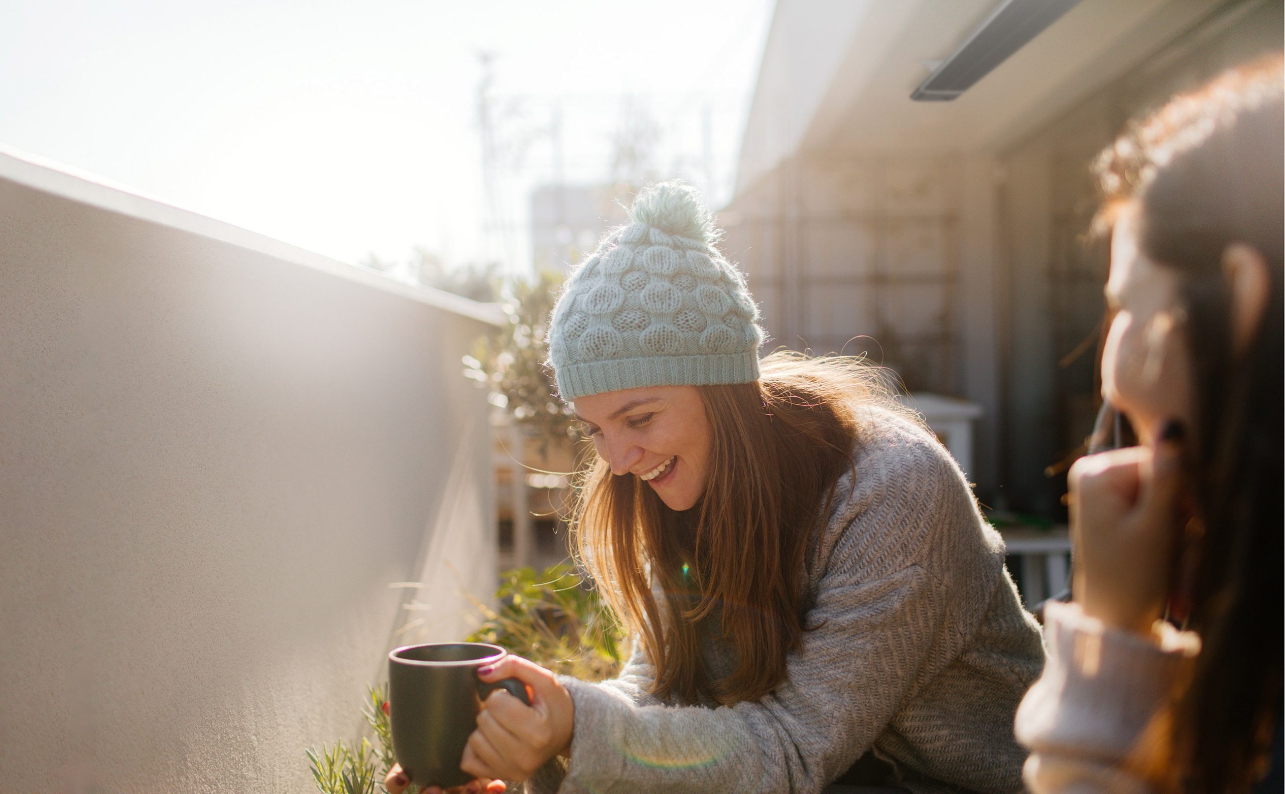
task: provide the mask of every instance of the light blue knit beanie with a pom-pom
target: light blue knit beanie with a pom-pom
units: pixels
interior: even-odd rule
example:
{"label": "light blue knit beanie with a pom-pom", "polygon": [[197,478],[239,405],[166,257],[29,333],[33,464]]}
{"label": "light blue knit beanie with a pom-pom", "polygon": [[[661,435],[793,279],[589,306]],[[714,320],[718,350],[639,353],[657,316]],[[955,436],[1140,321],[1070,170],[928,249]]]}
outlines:
{"label": "light blue knit beanie with a pom-pom", "polygon": [[554,306],[549,362],[562,398],[758,379],[758,308],[714,248],[720,233],[696,190],[650,185],[630,221],[571,274]]}

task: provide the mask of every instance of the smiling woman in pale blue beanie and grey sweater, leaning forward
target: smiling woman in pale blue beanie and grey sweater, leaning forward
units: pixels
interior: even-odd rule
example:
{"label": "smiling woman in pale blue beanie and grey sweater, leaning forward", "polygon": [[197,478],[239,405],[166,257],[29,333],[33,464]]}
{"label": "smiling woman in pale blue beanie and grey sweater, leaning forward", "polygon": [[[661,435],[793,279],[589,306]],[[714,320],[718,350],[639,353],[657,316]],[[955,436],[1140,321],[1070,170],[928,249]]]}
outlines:
{"label": "smiling woman in pale blue beanie and grey sweater, leaning forward", "polygon": [[488,699],[463,768],[531,791],[1020,789],[1013,713],[1043,654],[955,461],[875,367],[758,360],[690,188],[630,220],[568,279],[550,360],[599,455],[580,558],[635,651],[601,684],[479,671],[533,698]]}

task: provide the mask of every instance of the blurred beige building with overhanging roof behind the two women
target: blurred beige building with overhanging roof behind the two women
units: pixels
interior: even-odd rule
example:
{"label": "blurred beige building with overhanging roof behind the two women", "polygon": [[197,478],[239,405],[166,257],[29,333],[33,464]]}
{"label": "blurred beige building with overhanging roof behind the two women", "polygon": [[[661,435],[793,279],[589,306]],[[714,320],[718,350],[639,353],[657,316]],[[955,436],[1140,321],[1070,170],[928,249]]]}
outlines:
{"label": "blurred beige building with overhanging roof behind the two women", "polygon": [[1055,518],[1097,405],[1088,164],[1135,114],[1279,51],[1281,5],[1083,0],[959,99],[912,101],[996,6],[777,4],[721,222],[770,346],[866,351],[979,403],[979,497]]}

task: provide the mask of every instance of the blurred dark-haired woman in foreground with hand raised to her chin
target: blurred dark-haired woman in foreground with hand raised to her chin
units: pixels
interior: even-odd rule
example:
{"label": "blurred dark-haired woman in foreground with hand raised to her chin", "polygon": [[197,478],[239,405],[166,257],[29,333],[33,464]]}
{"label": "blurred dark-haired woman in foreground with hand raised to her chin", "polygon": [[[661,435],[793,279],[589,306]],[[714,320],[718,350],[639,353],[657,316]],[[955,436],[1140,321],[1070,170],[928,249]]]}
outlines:
{"label": "blurred dark-haired woman in foreground with hand raised to her chin", "polygon": [[1033,791],[1281,790],[1281,81],[1234,69],[1099,158],[1103,396],[1140,446],[1070,472],[1074,603],[1016,721]]}

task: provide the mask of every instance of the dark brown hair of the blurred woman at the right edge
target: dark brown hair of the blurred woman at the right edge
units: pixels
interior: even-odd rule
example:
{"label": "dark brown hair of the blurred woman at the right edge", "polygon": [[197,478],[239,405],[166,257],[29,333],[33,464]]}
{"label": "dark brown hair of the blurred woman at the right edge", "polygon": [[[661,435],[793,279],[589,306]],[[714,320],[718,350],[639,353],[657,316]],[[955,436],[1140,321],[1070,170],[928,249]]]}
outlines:
{"label": "dark brown hair of the blurred woman at the right edge", "polygon": [[[1148,256],[1181,276],[1194,364],[1195,520],[1203,524],[1190,627],[1203,650],[1174,693],[1154,758],[1191,791],[1245,790],[1262,771],[1281,694],[1281,57],[1232,69],[1133,125],[1099,158],[1105,217],[1136,203]],[[1221,260],[1253,247],[1271,278],[1257,335],[1234,355]]]}

